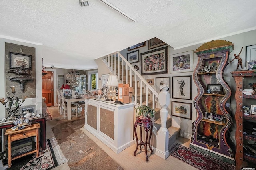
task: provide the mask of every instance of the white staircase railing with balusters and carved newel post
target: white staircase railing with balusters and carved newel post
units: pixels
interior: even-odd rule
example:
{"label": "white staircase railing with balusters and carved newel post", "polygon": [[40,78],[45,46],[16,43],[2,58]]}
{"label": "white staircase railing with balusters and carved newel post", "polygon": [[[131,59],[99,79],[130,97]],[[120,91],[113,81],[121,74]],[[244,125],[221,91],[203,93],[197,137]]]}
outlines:
{"label": "white staircase railing with balusters and carved newel post", "polygon": [[[120,83],[130,84],[134,87],[134,105],[149,105],[152,102],[152,109],[156,109],[159,95],[148,82],[134,69],[134,67],[124,58],[120,52],[115,52],[102,57],[102,61],[106,64],[113,75],[117,75]],[[139,90],[139,91],[138,91]],[[138,93],[139,92],[139,93]],[[144,96],[144,97],[143,97]],[[139,100],[138,100],[139,97]],[[146,97],[146,99],[145,99]],[[144,103],[142,103],[144,101]],[[158,108],[161,107],[158,105]],[[163,108],[164,109],[164,108]],[[160,110],[161,113],[162,109]],[[168,136],[169,132],[166,128],[167,115],[162,117],[160,130],[153,126],[153,133],[156,135],[156,155],[166,159],[168,153]],[[152,119],[154,125],[154,119]]]}

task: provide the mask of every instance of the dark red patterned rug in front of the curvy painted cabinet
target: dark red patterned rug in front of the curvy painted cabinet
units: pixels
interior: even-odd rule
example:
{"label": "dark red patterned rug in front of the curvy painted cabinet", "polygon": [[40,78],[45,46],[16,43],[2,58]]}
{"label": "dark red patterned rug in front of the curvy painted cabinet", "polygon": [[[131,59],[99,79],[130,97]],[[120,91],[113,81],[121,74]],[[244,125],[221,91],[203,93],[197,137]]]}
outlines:
{"label": "dark red patterned rug in front of the curvy painted cabinet", "polygon": [[176,144],[169,154],[198,168],[200,170],[234,170],[234,166],[231,164],[222,162],[180,144]]}

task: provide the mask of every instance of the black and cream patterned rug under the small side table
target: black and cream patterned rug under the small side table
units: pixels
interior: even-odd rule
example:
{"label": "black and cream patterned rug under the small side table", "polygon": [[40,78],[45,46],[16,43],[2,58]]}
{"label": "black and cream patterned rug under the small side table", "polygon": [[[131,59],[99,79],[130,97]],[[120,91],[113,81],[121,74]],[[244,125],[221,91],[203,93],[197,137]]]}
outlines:
{"label": "black and cream patterned rug under the small side table", "polygon": [[[12,166],[8,170],[50,170],[60,164],[56,159],[54,148],[49,139],[46,142],[46,150],[39,153],[24,156],[12,161]],[[57,153],[58,154],[58,153]]]}

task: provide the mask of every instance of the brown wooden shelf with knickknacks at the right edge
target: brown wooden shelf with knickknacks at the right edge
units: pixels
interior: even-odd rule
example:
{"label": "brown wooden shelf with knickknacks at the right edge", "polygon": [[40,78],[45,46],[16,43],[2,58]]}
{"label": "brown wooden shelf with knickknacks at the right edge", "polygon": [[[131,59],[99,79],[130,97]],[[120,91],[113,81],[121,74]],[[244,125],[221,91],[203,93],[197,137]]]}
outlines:
{"label": "brown wooden shelf with knickknacks at the right edge", "polygon": [[236,82],[236,170],[244,161],[256,162],[256,73],[233,71]]}

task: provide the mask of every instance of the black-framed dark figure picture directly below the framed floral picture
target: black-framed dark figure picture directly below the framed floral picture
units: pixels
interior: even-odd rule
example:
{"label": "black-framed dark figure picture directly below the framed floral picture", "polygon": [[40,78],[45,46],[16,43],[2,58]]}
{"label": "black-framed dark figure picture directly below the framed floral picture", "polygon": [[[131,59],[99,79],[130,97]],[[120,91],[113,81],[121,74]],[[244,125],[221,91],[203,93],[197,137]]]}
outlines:
{"label": "black-framed dark figure picture directly below the framed floral picture", "polygon": [[191,100],[192,75],[172,77],[172,98]]}

